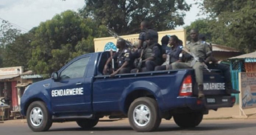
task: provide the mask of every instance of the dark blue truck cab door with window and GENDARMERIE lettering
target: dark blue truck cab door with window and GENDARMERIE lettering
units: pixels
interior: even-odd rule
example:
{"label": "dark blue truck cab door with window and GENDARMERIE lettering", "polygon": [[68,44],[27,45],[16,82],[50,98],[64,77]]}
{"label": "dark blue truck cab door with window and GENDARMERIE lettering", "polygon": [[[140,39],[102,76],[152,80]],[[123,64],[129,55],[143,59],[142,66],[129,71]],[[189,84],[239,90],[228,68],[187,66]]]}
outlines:
{"label": "dark blue truck cab door with window and GENDARMERIE lettering", "polygon": [[75,59],[61,69],[59,80],[53,81],[49,95],[54,113],[91,112],[90,78],[86,72],[90,57]]}

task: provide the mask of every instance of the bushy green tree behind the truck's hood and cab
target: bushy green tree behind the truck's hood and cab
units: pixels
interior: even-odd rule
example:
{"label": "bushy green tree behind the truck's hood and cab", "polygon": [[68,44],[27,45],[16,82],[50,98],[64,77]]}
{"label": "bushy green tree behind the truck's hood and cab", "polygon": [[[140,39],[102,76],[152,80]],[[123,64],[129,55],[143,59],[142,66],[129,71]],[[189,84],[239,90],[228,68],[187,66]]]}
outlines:
{"label": "bushy green tree behind the truck's hood and cab", "polygon": [[35,29],[29,68],[47,76],[74,57],[93,52],[93,38],[106,35],[106,27],[93,19],[65,11]]}

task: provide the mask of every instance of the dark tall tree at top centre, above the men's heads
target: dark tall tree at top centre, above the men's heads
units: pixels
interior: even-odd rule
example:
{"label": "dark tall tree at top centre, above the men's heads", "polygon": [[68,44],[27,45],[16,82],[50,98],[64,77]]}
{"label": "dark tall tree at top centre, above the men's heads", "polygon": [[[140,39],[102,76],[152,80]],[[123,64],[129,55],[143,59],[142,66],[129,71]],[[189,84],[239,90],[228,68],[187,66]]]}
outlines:
{"label": "dark tall tree at top centre, above the men's heads", "polygon": [[152,22],[158,31],[174,29],[184,24],[185,0],[85,0],[80,11],[83,17],[93,17],[118,34],[139,32],[143,20]]}

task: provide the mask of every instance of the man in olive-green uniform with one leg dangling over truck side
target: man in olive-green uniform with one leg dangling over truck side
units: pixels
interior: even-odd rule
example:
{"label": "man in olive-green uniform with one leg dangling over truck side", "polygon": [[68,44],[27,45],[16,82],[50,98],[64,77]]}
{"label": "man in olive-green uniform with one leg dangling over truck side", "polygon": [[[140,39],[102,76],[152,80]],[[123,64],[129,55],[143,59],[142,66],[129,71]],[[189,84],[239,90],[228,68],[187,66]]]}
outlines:
{"label": "man in olive-green uniform with one leg dangling over truck side", "polygon": [[183,62],[174,62],[171,64],[172,69],[184,69],[193,68],[195,70],[196,82],[198,84],[198,97],[203,98],[203,69],[204,59],[211,54],[211,50],[208,45],[205,45],[198,41],[198,30],[191,29],[190,31],[191,42],[184,48],[191,54],[199,58],[199,61],[195,61],[194,56],[190,56],[189,59]]}

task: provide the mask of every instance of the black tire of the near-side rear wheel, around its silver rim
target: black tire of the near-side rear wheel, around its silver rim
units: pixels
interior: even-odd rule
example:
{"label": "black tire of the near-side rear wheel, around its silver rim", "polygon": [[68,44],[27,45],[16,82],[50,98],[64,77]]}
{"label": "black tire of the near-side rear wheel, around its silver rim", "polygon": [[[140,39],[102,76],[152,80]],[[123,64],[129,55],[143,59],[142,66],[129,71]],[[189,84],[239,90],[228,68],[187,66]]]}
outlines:
{"label": "black tire of the near-side rear wheel, around its silver rim", "polygon": [[[143,109],[142,109],[143,106]],[[140,109],[138,109],[138,107]],[[145,111],[144,109],[149,111],[149,114],[145,114],[146,117],[149,118],[148,121],[144,120],[145,124],[139,123],[137,120],[134,118],[134,112],[135,109],[138,109],[139,111]],[[137,114],[137,113],[136,113]],[[143,116],[143,114],[141,114]],[[159,109],[156,100],[148,97],[142,97],[135,99],[128,110],[128,118],[129,118],[129,123],[131,127],[137,131],[137,132],[150,132],[155,129],[157,129],[161,123],[161,118],[159,116]],[[142,119],[142,117],[141,117]],[[143,122],[143,121],[142,121]]]}

